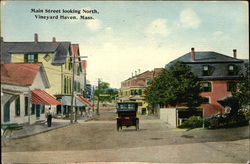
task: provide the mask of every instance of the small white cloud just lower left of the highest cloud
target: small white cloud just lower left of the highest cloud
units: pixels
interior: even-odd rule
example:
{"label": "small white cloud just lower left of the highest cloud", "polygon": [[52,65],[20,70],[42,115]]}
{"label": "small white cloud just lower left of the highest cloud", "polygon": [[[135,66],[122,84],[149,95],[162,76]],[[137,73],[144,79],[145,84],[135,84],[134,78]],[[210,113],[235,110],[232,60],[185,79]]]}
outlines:
{"label": "small white cloud just lower left of the highest cloud", "polygon": [[158,34],[162,36],[167,36],[170,33],[170,29],[166,25],[165,19],[156,19],[150,23],[148,28],[146,29],[147,34]]}

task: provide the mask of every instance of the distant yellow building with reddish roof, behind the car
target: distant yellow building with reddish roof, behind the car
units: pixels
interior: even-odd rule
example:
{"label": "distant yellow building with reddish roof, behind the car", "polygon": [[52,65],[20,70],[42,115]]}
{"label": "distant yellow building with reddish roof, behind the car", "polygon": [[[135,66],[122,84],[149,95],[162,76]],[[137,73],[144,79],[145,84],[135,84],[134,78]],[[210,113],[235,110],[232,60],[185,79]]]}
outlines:
{"label": "distant yellow building with reddish roof, behind the car", "polygon": [[149,104],[145,101],[144,90],[163,68],[155,68],[153,71],[146,71],[132,76],[121,82],[118,94],[118,102],[138,103],[138,114],[149,114]]}

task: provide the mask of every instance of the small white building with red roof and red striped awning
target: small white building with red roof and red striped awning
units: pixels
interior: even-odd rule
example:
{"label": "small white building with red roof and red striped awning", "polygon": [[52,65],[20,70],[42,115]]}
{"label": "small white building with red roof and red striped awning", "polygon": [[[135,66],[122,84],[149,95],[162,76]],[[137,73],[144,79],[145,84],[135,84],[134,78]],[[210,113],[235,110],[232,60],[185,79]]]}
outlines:
{"label": "small white building with red roof and red striped awning", "polygon": [[44,90],[50,84],[42,63],[1,64],[1,123],[45,120],[61,103]]}

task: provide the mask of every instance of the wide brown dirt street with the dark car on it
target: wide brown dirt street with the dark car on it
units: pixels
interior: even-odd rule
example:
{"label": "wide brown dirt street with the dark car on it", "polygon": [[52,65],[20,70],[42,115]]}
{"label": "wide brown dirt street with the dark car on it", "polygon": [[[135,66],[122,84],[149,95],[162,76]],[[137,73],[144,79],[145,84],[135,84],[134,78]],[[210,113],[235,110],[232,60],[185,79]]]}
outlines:
{"label": "wide brown dirt street with the dark car on it", "polygon": [[11,140],[2,147],[3,163],[185,162],[245,163],[249,127],[173,129],[154,116],[139,116],[140,130],[116,131],[114,108],[100,117],[42,134]]}

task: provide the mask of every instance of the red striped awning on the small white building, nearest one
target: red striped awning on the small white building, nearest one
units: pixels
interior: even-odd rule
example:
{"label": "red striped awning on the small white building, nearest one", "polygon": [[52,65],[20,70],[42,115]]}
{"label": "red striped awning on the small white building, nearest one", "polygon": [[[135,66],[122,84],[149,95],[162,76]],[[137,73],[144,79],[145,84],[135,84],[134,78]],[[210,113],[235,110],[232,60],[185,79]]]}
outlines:
{"label": "red striped awning on the small white building, nearest one", "polygon": [[31,92],[31,104],[42,104],[42,105],[62,105],[54,97],[47,92],[36,89]]}

